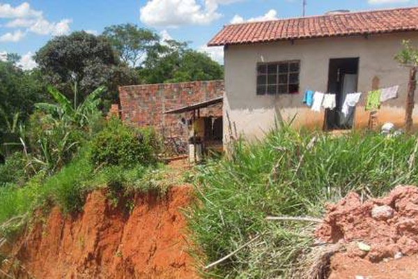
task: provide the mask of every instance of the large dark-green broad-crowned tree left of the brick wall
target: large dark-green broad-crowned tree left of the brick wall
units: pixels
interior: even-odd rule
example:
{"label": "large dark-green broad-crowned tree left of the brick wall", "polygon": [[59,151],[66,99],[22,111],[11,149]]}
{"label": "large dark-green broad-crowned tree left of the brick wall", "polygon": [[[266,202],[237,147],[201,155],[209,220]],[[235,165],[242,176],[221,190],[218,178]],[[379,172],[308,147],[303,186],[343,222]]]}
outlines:
{"label": "large dark-green broad-crowned tree left of the brick wall", "polygon": [[105,97],[115,100],[117,86],[137,83],[130,69],[120,63],[107,38],[84,31],[49,40],[36,52],[35,60],[47,83],[68,98],[73,98],[77,86],[77,103],[103,84],[110,92]]}

